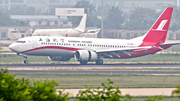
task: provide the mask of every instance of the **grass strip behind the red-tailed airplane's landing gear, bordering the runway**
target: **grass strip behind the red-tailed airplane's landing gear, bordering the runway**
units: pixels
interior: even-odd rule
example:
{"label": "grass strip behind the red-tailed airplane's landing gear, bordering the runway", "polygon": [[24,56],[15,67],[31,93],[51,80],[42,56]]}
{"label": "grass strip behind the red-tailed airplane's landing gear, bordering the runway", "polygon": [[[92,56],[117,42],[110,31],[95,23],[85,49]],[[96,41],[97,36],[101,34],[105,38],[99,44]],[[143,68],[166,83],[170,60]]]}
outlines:
{"label": "grass strip behind the red-tailed airplane's landing gear, bordering the runway", "polygon": [[[24,58],[17,55],[10,54],[1,54],[1,64],[5,63],[22,63]],[[50,61],[47,56],[28,56],[29,63],[37,64],[67,64],[67,63],[79,63],[72,58],[68,62],[61,61]],[[104,59],[105,64],[111,63],[134,63],[134,64],[143,64],[143,63],[180,63],[180,54],[155,54],[148,55],[143,57],[131,58],[131,59]]]}

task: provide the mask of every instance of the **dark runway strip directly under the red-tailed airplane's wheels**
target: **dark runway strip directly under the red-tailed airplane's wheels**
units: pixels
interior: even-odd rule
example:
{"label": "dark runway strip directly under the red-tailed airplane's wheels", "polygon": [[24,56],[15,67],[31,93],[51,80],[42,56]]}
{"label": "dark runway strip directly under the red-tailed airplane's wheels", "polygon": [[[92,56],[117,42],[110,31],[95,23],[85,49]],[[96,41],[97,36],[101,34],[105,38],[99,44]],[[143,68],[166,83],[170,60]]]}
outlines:
{"label": "dark runway strip directly under the red-tailed airplane's wheels", "polygon": [[1,64],[0,68],[178,68],[180,64]]}

